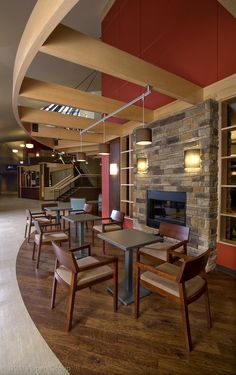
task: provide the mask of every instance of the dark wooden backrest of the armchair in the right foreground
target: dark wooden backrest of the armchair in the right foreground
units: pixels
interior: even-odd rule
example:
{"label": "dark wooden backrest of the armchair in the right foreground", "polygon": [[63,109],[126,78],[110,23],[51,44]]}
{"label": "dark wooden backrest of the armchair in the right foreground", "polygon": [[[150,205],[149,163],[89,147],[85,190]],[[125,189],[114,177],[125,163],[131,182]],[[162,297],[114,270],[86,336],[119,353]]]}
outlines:
{"label": "dark wooden backrest of the armchair in the right foreground", "polygon": [[180,269],[176,281],[183,283],[203,272],[205,270],[209,255],[210,249],[197,257],[185,261]]}

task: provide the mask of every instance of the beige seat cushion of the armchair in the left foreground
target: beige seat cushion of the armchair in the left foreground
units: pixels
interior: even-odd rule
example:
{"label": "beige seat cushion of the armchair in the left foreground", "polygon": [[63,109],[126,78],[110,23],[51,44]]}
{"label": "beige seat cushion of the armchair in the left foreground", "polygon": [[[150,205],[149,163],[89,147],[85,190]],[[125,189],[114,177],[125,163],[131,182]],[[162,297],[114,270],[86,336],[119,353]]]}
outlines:
{"label": "beige seat cushion of the armchair in the left foreground", "polygon": [[[90,264],[99,263],[94,257],[88,256],[77,260],[79,267],[88,266]],[[64,266],[60,266],[56,270],[57,274],[64,280],[67,284],[71,283],[71,271]],[[113,270],[109,266],[101,266],[98,268],[93,268],[92,270],[81,271],[78,273],[77,285],[82,286],[85,283],[89,283],[95,280],[99,280],[106,276],[113,275]]]}

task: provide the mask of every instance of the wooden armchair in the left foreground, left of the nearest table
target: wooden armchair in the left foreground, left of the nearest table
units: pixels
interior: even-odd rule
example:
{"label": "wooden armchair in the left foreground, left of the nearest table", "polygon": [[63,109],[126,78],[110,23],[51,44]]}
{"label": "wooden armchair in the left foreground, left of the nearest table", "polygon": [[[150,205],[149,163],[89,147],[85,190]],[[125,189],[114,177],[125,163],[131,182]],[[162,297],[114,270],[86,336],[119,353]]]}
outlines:
{"label": "wooden armchair in the left foreground, left of the nearest table", "polygon": [[[53,278],[51,308],[55,307],[57,283],[63,284],[68,289],[69,300],[67,307],[67,330],[70,331],[73,318],[75,293],[84,288],[113,279],[113,308],[118,307],[118,260],[114,256],[91,256],[90,244],[83,245],[67,251],[52,242],[56,255]],[[76,259],[76,252],[87,250],[87,256]],[[112,266],[112,267],[111,267]]]}

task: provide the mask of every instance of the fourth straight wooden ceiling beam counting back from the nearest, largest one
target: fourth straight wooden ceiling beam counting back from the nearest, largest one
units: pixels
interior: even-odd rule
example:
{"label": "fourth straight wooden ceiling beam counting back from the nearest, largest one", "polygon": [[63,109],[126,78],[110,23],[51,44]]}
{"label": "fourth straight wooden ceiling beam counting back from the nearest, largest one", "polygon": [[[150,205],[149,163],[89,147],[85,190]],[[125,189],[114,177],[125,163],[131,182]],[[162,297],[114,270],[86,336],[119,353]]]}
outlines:
{"label": "fourth straight wooden ceiling beam counting back from the nearest, largest one", "polygon": [[[54,138],[54,139],[67,139],[67,140],[77,140],[80,142],[93,142],[102,143],[103,136],[100,134],[83,134],[82,138],[80,133],[73,130],[59,129],[55,127],[39,125],[38,132],[30,131],[32,137],[43,137],[43,138]],[[107,137],[108,138],[108,137]],[[109,139],[109,138],[108,138]]]}

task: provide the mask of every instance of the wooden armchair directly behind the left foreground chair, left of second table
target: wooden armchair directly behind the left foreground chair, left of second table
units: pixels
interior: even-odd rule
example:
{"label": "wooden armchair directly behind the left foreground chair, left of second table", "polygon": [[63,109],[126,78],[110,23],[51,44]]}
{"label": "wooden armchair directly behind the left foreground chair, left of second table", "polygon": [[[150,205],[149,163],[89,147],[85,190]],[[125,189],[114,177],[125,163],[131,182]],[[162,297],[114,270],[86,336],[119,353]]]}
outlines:
{"label": "wooden armchair directly behind the left foreground chair, left of second table", "polygon": [[[67,242],[69,243],[70,247],[70,229],[61,229],[61,223],[50,223],[50,224],[42,224],[38,221],[34,220],[35,226],[35,236],[34,236],[34,246],[33,246],[33,254],[32,259],[34,260],[35,251],[37,247],[37,257],[36,257],[36,269],[39,268],[39,261],[41,255],[41,249],[43,245],[51,244],[52,241],[55,242]],[[48,229],[49,228],[49,229]],[[54,228],[54,229],[53,229]]]}

